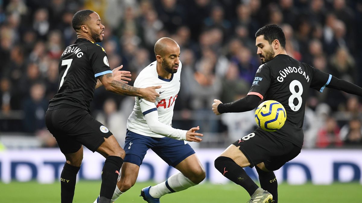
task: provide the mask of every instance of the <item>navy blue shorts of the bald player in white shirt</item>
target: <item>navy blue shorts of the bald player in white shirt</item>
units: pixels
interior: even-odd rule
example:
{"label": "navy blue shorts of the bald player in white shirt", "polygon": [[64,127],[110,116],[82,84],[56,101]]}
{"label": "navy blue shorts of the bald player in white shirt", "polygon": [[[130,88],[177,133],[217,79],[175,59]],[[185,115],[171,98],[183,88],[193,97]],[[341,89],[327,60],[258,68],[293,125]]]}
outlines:
{"label": "navy blue shorts of the bald player in white shirt", "polygon": [[148,149],[154,151],[168,165],[176,167],[182,160],[195,154],[191,146],[183,140],[168,137],[154,138],[140,135],[127,129],[124,162],[140,166]]}

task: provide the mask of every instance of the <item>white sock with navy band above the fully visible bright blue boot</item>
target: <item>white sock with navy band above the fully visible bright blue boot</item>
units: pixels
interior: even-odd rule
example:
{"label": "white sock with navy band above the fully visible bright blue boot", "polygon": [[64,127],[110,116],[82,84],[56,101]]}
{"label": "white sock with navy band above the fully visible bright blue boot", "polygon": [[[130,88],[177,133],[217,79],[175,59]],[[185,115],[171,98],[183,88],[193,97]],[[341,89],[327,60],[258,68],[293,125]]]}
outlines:
{"label": "white sock with navy band above the fully visible bright blue boot", "polygon": [[[189,187],[195,186],[197,184],[190,181],[189,178],[186,178],[182,173],[176,173],[169,177],[167,181],[162,182],[158,185],[152,186],[150,188],[150,195],[154,198],[160,198],[161,196],[174,193],[182,190],[186,190]],[[171,189],[169,189],[169,188]]]}

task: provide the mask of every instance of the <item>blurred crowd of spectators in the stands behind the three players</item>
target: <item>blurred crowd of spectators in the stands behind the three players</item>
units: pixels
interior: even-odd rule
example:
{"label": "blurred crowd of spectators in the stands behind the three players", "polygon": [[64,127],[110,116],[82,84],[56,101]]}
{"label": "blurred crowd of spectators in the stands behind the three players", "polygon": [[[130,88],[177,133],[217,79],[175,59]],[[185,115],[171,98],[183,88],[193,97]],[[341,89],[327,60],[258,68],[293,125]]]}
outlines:
{"label": "blurred crowd of spectators in the stands behind the three players", "polygon": [[[255,127],[253,112],[216,117],[210,109],[213,99],[227,103],[247,94],[261,65],[254,35],[262,26],[282,27],[288,55],[362,85],[362,2],[355,0],[0,0],[1,134],[23,132],[56,145],[45,112],[58,88],[59,57],[76,39],[73,14],[81,9],[100,15],[99,44],[109,65],[123,64],[132,81],[155,60],[157,39],[180,45],[173,126],[199,125],[210,133],[206,147],[229,144]],[[122,143],[133,104],[134,98],[99,88],[92,115]],[[306,109],[304,147],[362,146],[361,98],[311,90]]]}

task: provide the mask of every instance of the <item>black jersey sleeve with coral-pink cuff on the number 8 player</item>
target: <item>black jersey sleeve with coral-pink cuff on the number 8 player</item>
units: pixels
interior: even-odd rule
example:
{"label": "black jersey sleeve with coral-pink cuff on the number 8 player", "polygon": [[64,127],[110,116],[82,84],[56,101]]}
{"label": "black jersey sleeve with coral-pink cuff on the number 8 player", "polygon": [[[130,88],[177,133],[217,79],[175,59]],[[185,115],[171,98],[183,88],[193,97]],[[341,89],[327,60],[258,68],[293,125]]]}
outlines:
{"label": "black jersey sleeve with coral-pink cuff on the number 8 player", "polygon": [[261,99],[264,98],[271,82],[271,71],[269,66],[261,65],[254,77],[254,81],[248,95],[256,95]]}

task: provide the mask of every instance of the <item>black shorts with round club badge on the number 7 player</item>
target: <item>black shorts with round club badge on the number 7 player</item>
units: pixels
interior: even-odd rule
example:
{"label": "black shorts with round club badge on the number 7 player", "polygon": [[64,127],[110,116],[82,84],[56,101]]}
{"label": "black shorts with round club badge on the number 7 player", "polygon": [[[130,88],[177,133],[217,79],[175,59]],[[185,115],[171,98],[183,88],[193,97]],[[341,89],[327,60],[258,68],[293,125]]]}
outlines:
{"label": "black shorts with round club badge on the number 7 player", "polygon": [[63,154],[77,152],[82,144],[95,152],[112,133],[85,109],[48,109],[45,123]]}

